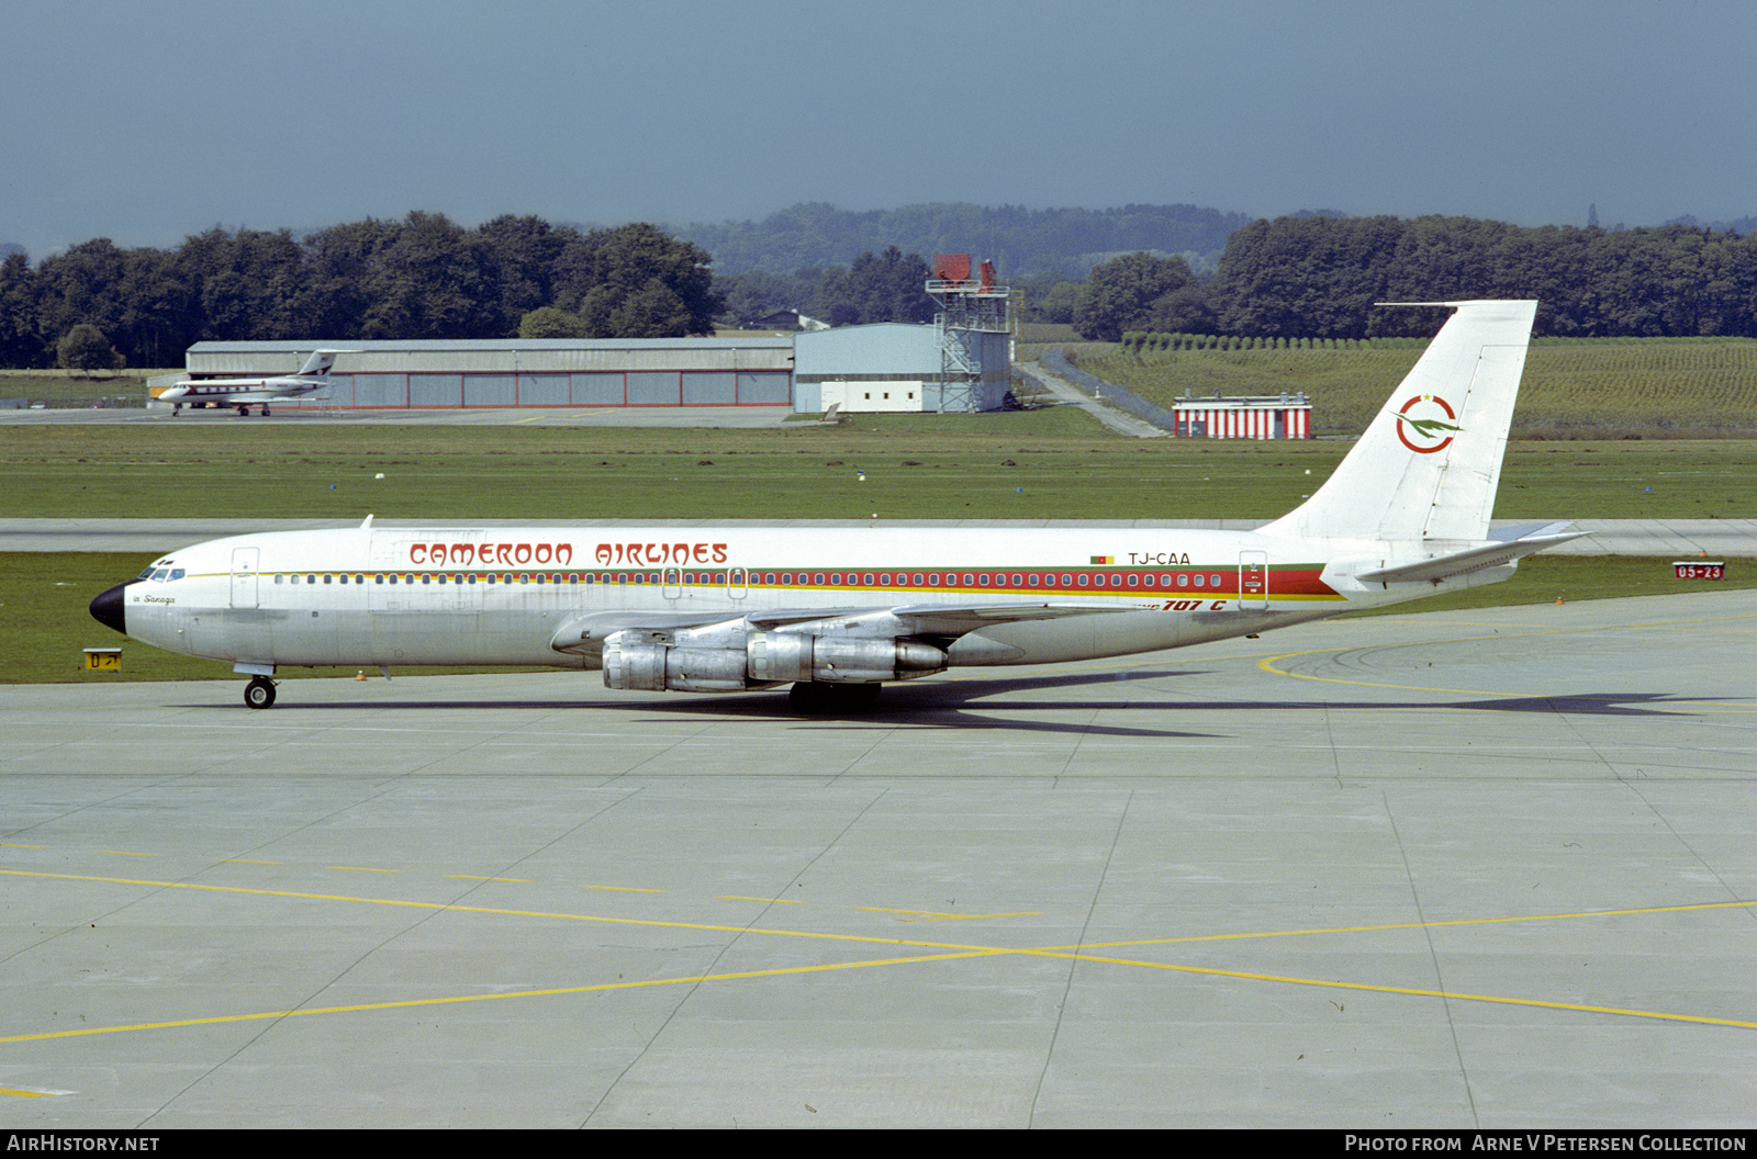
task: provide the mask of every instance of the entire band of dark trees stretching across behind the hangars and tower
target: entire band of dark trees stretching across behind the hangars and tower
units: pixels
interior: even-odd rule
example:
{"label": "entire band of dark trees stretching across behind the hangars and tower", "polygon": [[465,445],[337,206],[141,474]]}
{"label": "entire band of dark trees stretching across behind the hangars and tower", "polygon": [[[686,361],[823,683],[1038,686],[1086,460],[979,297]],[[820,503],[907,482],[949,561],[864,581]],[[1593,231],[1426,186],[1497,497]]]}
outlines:
{"label": "entire band of dark trees stretching across behind the hangars and tower", "polygon": [[[936,251],[979,251],[952,241]],[[100,237],[35,267],[0,260],[0,365],[176,365],[207,339],[680,337],[778,309],[833,325],[933,318],[928,263],[894,244],[792,274],[717,276],[717,258],[647,223],[501,216],[471,230],[429,212],[302,237],[214,228],[176,249]],[[1543,335],[1757,337],[1757,234],[1681,223],[1291,216],[1233,230],[1211,276],[1139,251],[1014,284],[1028,316],[1100,341],[1430,335],[1437,311],[1377,304],[1458,299],[1537,299]]]}

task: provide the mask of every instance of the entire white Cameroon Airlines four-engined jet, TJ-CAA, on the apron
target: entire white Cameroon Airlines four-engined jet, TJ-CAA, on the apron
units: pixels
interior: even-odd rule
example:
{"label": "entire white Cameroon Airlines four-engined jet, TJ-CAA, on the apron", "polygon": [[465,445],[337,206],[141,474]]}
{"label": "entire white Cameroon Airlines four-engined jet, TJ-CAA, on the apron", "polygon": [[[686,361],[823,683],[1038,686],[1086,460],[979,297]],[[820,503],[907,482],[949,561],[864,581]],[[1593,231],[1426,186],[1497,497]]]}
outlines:
{"label": "entire white Cameroon Airlines four-engined jet, TJ-CAA, on the apron", "polygon": [[406,664],[603,669],[610,688],[792,685],[859,709],[961,666],[1158,651],[1493,583],[1574,539],[1490,534],[1536,302],[1457,313],[1325,485],[1254,532],[1137,527],[374,527],[216,539],[95,601],[251,676]]}

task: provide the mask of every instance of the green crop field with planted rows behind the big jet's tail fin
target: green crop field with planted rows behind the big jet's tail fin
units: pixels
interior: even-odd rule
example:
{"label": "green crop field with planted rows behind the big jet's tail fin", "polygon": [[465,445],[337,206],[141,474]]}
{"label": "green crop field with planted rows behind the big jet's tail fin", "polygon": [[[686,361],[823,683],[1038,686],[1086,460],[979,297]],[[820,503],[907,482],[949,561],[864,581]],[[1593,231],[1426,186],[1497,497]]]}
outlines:
{"label": "green crop field with planted rows behind the big jet's tail fin", "polygon": [[[1420,349],[1147,351],[1077,348],[1079,365],[1170,407],[1191,395],[1305,392],[1318,434],[1365,427]],[[1515,437],[1757,436],[1757,341],[1537,339]]]}

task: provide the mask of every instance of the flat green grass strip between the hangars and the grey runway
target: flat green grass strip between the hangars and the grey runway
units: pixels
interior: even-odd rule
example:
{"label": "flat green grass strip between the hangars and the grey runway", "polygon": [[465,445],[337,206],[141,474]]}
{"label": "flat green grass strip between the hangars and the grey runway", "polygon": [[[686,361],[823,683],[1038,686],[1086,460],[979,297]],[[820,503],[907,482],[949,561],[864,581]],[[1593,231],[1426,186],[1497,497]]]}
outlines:
{"label": "flat green grass strip between the hangars and the grey runway", "polygon": [[[5,515],[53,518],[1267,520],[1298,506],[1348,446],[1119,439],[1074,407],[775,430],[21,425],[0,427],[0,495]],[[1757,441],[1743,439],[1515,443],[1495,508],[1752,513]]]}

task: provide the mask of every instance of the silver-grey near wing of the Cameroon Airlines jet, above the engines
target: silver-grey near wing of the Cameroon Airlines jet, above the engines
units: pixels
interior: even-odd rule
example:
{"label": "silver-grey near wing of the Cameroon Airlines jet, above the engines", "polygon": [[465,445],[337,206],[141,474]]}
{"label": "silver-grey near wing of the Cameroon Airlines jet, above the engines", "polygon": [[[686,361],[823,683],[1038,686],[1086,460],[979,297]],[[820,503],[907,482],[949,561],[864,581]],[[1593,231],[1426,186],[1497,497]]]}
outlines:
{"label": "silver-grey near wing of the Cameroon Airlines jet, above the engines", "polygon": [[813,634],[821,632],[859,632],[871,629],[875,636],[940,636],[956,639],[977,629],[994,623],[1014,623],[1019,620],[1059,620],[1065,616],[1112,615],[1135,611],[1130,606],[1075,602],[1075,601],[989,601],[966,604],[894,604],[889,608],[801,608],[757,611],[738,616],[734,609],[715,609],[701,613],[654,613],[654,611],[594,611],[564,623],[550,637],[550,648],[569,653],[596,653],[604,646],[604,637],[617,632],[676,632],[682,629],[706,627],[743,620],[750,630],[775,632],[789,627],[810,625]]}

